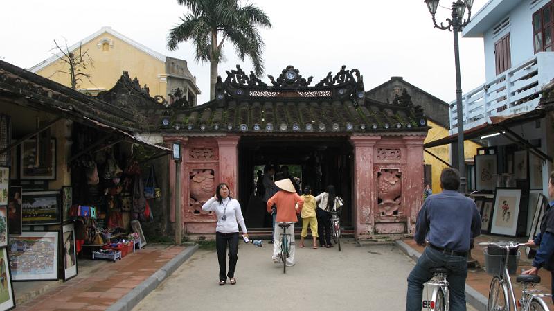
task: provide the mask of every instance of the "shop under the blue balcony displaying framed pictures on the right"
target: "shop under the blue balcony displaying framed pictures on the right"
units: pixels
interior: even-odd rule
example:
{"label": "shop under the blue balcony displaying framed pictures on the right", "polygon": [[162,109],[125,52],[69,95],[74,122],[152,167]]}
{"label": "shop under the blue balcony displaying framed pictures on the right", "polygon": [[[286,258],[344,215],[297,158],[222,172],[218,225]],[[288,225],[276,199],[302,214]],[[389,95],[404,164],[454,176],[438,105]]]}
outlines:
{"label": "shop under the blue balcony displaying framed pictures on the right", "polygon": [[[481,212],[481,232],[533,238],[548,204],[553,170],[554,100],[544,91],[537,109],[490,121],[464,133],[481,142],[467,161],[467,190]],[[453,143],[457,135],[424,145]]]}

